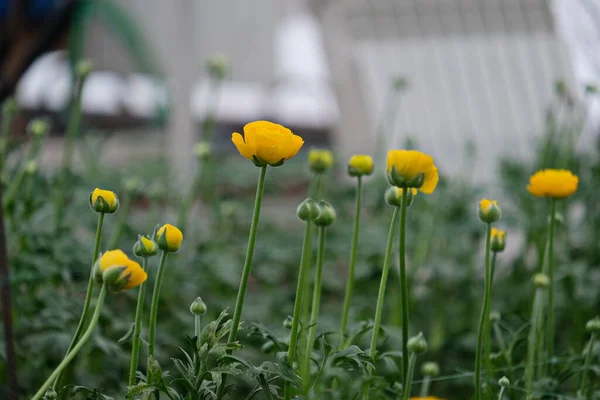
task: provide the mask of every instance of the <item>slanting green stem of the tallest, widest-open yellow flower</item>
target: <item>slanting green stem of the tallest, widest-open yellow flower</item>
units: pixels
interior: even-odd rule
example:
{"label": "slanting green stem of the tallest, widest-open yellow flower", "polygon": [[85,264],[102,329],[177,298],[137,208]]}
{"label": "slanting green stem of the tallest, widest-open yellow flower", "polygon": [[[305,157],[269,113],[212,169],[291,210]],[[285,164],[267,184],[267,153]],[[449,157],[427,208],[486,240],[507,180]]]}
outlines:
{"label": "slanting green stem of the tallest, widest-open yellow flower", "polygon": [[[237,299],[235,301],[235,309],[233,311],[231,330],[229,331],[228,343],[233,343],[237,340],[240,320],[242,318],[242,309],[244,308],[244,299],[246,298],[246,289],[248,288],[248,279],[252,269],[252,257],[254,257],[254,246],[256,244],[256,232],[258,230],[258,221],[260,220],[260,207],[262,204],[263,192],[265,189],[265,176],[267,174],[267,166],[261,167],[256,186],[256,198],[254,199],[254,211],[252,213],[252,224],[250,225],[250,235],[248,236],[248,248],[246,249],[246,261],[242,269],[242,277],[240,279],[240,287],[238,289]],[[225,381],[227,375],[223,375],[221,386],[217,391],[217,399],[222,399],[225,393]]]}

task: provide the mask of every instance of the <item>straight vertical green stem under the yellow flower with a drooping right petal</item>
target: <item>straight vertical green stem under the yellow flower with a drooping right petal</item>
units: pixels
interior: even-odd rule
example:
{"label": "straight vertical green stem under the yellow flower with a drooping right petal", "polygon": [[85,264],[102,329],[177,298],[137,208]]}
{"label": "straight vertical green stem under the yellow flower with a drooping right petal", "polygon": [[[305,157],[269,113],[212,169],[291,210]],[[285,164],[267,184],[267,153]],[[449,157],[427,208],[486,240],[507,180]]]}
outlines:
{"label": "straight vertical green stem under the yellow flower with a drooping right petal", "polygon": [[406,278],[406,207],[408,190],[402,190],[400,206],[400,292],[402,304],[402,387],[408,382],[408,280]]}

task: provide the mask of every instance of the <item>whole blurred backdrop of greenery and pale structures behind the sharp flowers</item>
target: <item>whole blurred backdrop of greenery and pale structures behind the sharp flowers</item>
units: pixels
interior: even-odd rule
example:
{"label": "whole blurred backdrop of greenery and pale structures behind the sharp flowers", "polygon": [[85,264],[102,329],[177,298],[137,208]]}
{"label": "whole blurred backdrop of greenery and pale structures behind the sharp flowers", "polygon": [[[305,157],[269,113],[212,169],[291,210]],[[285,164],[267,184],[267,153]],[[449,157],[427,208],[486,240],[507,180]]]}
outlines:
{"label": "whole blurred backdrop of greenery and pale structures behind the sharp flowers", "polygon": [[[560,360],[571,360],[565,370],[578,371],[585,322],[600,309],[598,0],[0,0],[0,21],[0,100],[14,94],[20,110],[2,182],[10,189],[28,171],[4,204],[20,393],[47,377],[77,325],[96,226],[88,205],[94,187],[115,190],[122,201],[107,218],[107,248],[131,249],[156,223],[184,229],[161,296],[163,369],[174,371],[176,346],[193,332],[188,307],[196,296],[208,305],[206,321],[233,306],[257,171],[230,138],[257,119],[290,127],[306,145],[269,168],[242,317],[249,325],[288,334],[282,321],[292,312],[303,235],[294,210],[311,179],[311,147],[330,148],[336,159],[324,178],[338,220],[328,237],[320,333],[339,328],[355,195],[346,162],[354,153],[375,157],[351,315],[358,329],[372,318],[391,215],[382,199],[385,151],[417,148],[435,158],[441,179],[434,195],[411,206],[411,322],[430,343],[423,361],[439,362],[449,376],[432,393],[469,398],[483,279],[476,202],[489,196],[503,207],[508,245],[498,257],[493,309],[502,313],[498,324],[517,364],[548,215],[548,204],[525,186],[537,169],[569,168],[581,183],[559,204],[557,343]],[[82,59],[94,68],[81,93],[74,168],[61,186],[54,171],[64,162]],[[32,171],[26,127],[39,116],[52,127]],[[200,140],[209,155],[193,151]],[[67,186],[64,226],[55,230],[55,192]],[[399,292],[397,277],[390,279],[382,349],[394,350]],[[107,300],[69,382],[124,396],[129,344],[118,338],[131,327],[135,295]],[[242,354],[256,363],[274,359],[264,354],[272,349],[260,329],[242,338]],[[367,348],[367,340],[356,343]],[[381,371],[390,384],[398,380],[393,363]],[[540,385],[552,396],[572,393],[574,376]],[[239,392],[248,394],[255,383],[240,380]]]}

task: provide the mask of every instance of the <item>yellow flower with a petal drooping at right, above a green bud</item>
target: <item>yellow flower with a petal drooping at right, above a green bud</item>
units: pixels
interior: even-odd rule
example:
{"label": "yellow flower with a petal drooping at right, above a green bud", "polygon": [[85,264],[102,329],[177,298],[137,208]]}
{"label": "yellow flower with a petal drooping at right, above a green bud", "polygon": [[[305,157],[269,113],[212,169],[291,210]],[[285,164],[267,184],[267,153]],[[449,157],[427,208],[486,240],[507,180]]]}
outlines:
{"label": "yellow flower with a petal drooping at right, above a green bud", "polygon": [[439,181],[433,157],[416,150],[390,150],[386,160],[390,184],[398,187],[414,187],[431,194]]}

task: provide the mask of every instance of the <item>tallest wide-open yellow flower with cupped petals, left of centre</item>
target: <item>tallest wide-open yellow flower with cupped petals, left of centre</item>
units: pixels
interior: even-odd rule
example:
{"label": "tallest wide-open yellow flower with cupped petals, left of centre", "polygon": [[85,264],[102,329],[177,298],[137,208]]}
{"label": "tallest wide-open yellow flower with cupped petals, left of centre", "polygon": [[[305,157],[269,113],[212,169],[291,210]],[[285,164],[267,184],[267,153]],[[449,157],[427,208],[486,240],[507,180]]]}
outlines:
{"label": "tallest wide-open yellow flower with cupped petals, left of centre", "polygon": [[257,167],[277,167],[294,157],[304,140],[283,125],[254,121],[244,126],[244,136],[234,132],[231,141],[240,154]]}

